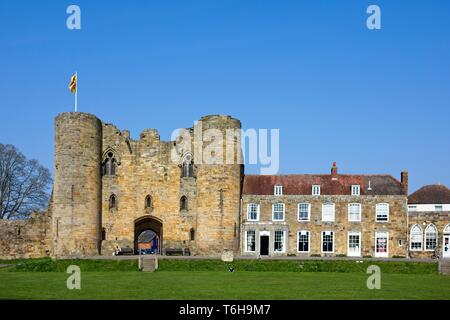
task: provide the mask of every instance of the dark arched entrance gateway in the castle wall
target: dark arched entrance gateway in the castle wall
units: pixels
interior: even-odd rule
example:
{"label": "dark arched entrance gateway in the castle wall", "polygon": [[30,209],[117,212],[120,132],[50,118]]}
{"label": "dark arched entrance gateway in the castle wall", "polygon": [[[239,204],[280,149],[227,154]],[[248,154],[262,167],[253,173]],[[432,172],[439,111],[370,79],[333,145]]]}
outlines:
{"label": "dark arched entrance gateway in the castle wall", "polygon": [[162,221],[152,216],[134,222],[134,252],[161,253]]}

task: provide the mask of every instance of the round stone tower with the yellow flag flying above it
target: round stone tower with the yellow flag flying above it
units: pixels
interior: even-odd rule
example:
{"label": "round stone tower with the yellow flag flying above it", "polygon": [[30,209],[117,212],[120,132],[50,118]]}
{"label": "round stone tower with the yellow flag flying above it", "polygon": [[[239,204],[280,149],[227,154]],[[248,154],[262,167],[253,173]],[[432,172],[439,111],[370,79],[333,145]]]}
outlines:
{"label": "round stone tower with the yellow flag flying above it", "polygon": [[54,257],[98,255],[101,241],[102,123],[87,113],[55,119]]}

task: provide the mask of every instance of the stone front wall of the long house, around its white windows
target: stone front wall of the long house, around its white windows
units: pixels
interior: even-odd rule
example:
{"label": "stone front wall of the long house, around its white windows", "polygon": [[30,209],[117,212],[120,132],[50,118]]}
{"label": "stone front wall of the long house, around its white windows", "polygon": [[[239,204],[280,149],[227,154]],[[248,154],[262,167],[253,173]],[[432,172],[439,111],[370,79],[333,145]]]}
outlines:
{"label": "stone front wall of the long house, around its white windows", "polygon": [[[347,255],[348,232],[361,233],[361,256],[375,257],[375,232],[389,232],[389,257],[405,257],[406,244],[406,197],[405,196],[243,196],[242,207],[242,238],[245,239],[245,231],[256,230],[256,252],[245,252],[245,241],[242,241],[242,253],[244,255],[257,255],[259,252],[259,236],[262,231],[270,232],[271,255],[321,255],[336,256]],[[272,221],[272,204],[285,204],[285,221]],[[335,204],[335,221],[322,222],[322,204]],[[249,203],[260,204],[259,222],[247,220],[247,205]],[[311,204],[310,221],[298,221],[298,203]],[[361,222],[348,221],[349,203],[361,203]],[[377,203],[388,203],[390,215],[388,222],[376,222],[375,206]],[[273,252],[273,234],[275,230],[286,231],[288,235],[287,250],[283,253]],[[310,232],[310,252],[297,252],[297,232]],[[323,254],[321,252],[322,231],[334,231],[334,253]]]}

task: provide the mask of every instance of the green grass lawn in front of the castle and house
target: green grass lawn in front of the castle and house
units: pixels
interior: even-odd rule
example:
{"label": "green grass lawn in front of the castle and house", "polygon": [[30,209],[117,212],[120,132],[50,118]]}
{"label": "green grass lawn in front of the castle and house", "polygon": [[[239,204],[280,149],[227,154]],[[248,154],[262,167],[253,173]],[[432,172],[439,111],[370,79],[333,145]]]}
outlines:
{"label": "green grass lawn in front of the castle and house", "polygon": [[[154,273],[125,270],[120,263],[114,266],[121,271],[112,267],[83,271],[82,267],[81,290],[66,288],[69,275],[63,271],[2,269],[0,299],[450,299],[450,277],[440,276],[426,265],[416,267],[421,272],[429,269],[421,274],[413,273],[411,267],[409,272],[399,273],[392,273],[398,266],[386,268],[387,272],[382,267],[381,290],[368,290],[369,275],[351,269],[345,272],[342,267],[337,272],[242,271],[246,268],[238,267],[230,273],[225,268],[214,269],[223,266],[221,262],[161,262],[161,269]],[[258,263],[254,261],[253,266]],[[60,264],[64,263],[54,267]],[[195,264],[200,271],[191,270]],[[186,270],[178,270],[182,266]],[[208,268],[214,270],[202,270]]]}

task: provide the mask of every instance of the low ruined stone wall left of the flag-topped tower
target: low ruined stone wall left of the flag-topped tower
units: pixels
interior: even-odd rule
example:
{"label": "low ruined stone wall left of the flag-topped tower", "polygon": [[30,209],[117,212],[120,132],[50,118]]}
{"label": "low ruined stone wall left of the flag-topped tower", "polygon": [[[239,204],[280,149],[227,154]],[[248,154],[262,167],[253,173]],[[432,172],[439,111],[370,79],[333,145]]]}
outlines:
{"label": "low ruined stone wall left of the flag-topped tower", "polygon": [[50,214],[34,213],[28,220],[0,220],[0,259],[50,255]]}

